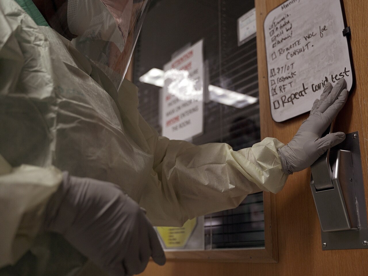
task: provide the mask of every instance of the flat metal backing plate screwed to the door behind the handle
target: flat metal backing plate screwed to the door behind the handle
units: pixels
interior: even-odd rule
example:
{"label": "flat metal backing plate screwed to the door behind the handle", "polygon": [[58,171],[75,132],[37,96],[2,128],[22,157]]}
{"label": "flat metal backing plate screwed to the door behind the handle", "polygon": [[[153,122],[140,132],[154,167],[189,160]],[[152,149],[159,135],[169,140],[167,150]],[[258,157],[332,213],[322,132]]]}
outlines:
{"label": "flat metal backing plate screwed to the door behind the handle", "polygon": [[[365,205],[364,183],[362,175],[362,166],[360,159],[360,145],[358,132],[348,133],[346,139],[336,147],[331,149],[331,152],[337,150],[345,150],[351,152],[351,163],[353,167],[352,183],[355,189],[355,199],[357,206],[357,230],[343,230],[326,232],[321,228],[321,247],[322,250],[335,249],[357,249],[368,248],[368,225],[367,212]],[[312,193],[315,192],[314,182],[311,180]],[[354,191],[352,191],[354,193]],[[315,194],[314,198],[316,200]],[[326,199],[328,201],[328,199]],[[316,204],[317,205],[317,204]],[[317,207],[317,206],[316,206]],[[317,207],[318,208],[318,207]],[[329,218],[330,220],[333,218]]]}

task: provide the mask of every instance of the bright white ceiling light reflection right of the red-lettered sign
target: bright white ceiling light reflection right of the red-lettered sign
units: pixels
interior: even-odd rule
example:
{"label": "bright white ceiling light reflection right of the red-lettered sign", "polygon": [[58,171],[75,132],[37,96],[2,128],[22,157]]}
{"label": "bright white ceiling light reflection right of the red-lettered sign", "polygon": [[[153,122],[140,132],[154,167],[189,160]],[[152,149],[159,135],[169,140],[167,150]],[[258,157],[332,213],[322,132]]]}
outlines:
{"label": "bright white ceiling light reflection right of the red-lettered sign", "polygon": [[243,108],[247,105],[258,102],[258,98],[241,94],[235,91],[224,89],[218,86],[208,86],[209,98],[220,104],[231,105],[237,108]]}

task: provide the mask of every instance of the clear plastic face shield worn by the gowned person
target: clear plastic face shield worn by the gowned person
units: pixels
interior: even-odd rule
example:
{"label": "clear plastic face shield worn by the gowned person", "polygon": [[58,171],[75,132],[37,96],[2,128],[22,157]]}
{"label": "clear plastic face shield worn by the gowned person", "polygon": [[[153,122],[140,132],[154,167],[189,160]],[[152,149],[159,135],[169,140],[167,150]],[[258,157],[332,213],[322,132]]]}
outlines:
{"label": "clear plastic face shield worn by the gowned person", "polygon": [[68,0],[73,43],[118,89],[151,0]]}

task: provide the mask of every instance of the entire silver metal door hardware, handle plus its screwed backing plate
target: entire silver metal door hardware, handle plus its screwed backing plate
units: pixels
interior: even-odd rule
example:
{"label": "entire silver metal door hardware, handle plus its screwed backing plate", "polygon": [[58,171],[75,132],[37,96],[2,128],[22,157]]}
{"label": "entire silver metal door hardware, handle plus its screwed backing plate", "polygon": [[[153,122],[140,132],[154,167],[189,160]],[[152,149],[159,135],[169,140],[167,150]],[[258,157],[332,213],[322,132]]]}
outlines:
{"label": "entire silver metal door hardware, handle plus its screwed backing plate", "polygon": [[368,248],[358,132],[347,134],[343,143],[323,154],[311,166],[311,172],[322,249]]}

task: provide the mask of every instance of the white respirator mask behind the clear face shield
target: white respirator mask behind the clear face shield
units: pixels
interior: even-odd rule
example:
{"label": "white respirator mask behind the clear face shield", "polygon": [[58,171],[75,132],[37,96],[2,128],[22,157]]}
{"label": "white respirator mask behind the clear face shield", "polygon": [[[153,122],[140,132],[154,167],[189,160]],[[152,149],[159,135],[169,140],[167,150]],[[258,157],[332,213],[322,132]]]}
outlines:
{"label": "white respirator mask behind the clear face shield", "polygon": [[132,0],[122,0],[114,15],[101,0],[68,0],[67,22],[73,35],[109,41],[123,51],[132,14]]}

